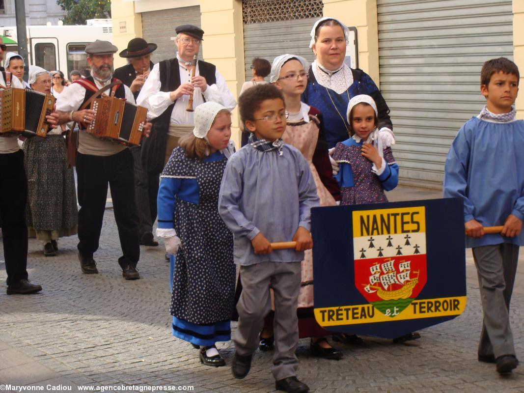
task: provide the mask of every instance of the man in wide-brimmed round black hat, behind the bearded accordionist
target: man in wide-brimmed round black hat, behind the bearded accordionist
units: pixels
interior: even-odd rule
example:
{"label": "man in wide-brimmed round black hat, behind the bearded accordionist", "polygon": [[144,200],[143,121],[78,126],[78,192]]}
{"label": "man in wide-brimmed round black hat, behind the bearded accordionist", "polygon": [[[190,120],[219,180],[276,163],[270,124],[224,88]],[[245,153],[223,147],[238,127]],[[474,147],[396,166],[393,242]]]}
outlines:
{"label": "man in wide-brimmed round black hat, behind the bearded accordionist", "polygon": [[[113,77],[121,80],[129,87],[136,97],[146,81],[149,71],[153,68],[151,53],[157,49],[156,43],[147,43],[143,38],[133,38],[127,48],[120,52],[120,57],[126,58],[129,64],[117,68]],[[141,162],[142,148],[134,146],[129,149],[135,160],[135,202],[140,228],[140,244],[158,246],[153,236],[153,223],[157,217],[158,176],[148,177]]]}

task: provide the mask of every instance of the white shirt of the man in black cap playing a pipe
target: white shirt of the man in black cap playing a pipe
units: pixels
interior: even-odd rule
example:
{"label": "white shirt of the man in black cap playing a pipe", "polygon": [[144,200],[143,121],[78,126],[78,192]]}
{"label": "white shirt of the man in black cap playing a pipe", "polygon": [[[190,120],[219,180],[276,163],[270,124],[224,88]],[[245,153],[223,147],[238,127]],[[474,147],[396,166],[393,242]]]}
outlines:
{"label": "white shirt of the man in black cap playing a pipe", "polygon": [[[191,82],[191,72],[185,67],[180,65],[180,83]],[[199,65],[196,63],[195,75],[199,75]],[[236,101],[233,98],[233,94],[227,88],[226,82],[222,75],[215,71],[216,84],[208,85],[208,88],[205,92],[199,88],[194,90],[193,94],[193,108],[196,108],[200,104],[207,101],[214,101],[219,104],[224,105],[228,110],[232,111],[236,106]],[[161,92],[160,91],[160,67],[159,63],[155,64],[149,77],[147,77],[146,83],[140,90],[140,94],[137,97],[137,104],[145,106],[148,109],[147,118],[154,119],[155,117],[160,116],[169,105],[173,103],[171,101],[169,94],[170,92]],[[202,97],[204,95],[204,98]],[[193,126],[194,125],[194,112],[188,112],[185,110],[189,102],[189,95],[183,95],[177,102],[174,104],[173,112],[171,113],[171,124],[175,125],[184,125],[184,126]]]}

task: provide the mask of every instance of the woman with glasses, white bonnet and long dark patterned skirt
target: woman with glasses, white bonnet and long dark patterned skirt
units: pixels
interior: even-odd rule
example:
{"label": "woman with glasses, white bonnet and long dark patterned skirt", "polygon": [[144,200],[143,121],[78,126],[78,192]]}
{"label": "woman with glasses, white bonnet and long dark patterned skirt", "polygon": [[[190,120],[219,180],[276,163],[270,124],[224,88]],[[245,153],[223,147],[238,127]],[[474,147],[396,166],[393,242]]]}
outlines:
{"label": "woman with glasses, white bonnet and long dark patterned skirt", "polygon": [[[51,94],[51,76],[43,68],[30,65],[28,82],[32,90]],[[43,242],[46,257],[54,256],[58,238],[76,234],[78,223],[73,168],[68,166],[61,129],[50,129],[45,138],[26,139],[24,153],[29,236]]]}

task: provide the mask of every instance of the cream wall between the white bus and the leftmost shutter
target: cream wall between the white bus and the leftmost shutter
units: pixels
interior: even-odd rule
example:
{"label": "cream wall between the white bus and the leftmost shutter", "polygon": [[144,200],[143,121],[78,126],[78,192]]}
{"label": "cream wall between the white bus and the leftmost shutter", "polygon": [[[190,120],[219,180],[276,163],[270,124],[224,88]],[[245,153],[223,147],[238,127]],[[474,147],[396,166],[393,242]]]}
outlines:
{"label": "cream wall between the white bus and the leftmost shutter", "polygon": [[142,36],[142,17],[135,12],[135,2],[111,0],[113,17],[113,45],[118,48],[115,54],[115,68],[127,63],[118,53],[127,48],[127,43],[135,37]]}

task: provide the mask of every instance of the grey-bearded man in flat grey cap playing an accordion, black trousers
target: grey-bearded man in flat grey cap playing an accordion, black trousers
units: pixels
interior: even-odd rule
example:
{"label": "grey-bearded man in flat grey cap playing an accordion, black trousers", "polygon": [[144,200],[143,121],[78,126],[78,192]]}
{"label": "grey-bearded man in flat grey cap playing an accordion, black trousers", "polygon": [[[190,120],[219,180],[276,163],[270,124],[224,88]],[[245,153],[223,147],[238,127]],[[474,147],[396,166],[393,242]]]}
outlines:
{"label": "grey-bearded man in flat grey cap playing an accordion, black trousers", "polygon": [[[133,156],[129,149],[119,143],[95,137],[86,132],[94,119],[90,109],[79,110],[82,104],[114,81],[113,54],[117,48],[111,42],[96,40],[85,47],[91,76],[74,81],[57,100],[59,123],[79,123],[79,147],[77,154],[78,201],[78,251],[80,267],[85,274],[96,274],[93,254],[99,248],[104,218],[107,185],[111,188],[113,209],[123,255],[118,258],[122,276],[126,280],[140,278],[136,265],[140,257],[138,217],[135,206]],[[135,103],[133,93],[123,84],[106,93],[130,103]],[[144,127],[149,132],[150,123]]]}

